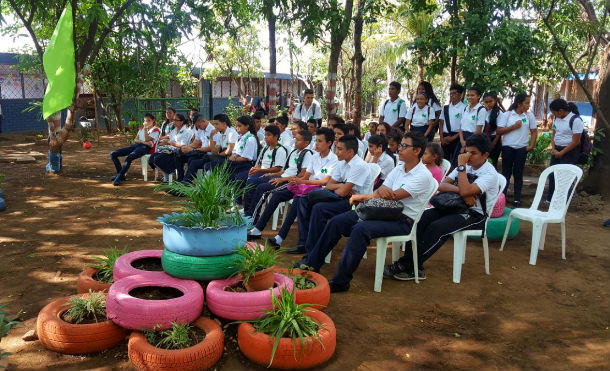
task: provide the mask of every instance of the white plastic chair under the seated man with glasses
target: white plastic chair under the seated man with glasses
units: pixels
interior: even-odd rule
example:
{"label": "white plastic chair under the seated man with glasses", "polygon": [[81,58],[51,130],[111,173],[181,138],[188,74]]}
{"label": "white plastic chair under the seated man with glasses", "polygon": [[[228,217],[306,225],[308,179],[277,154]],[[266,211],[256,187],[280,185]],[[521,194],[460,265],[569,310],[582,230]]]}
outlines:
{"label": "white plastic chair under the seated man with glasses", "polygon": [[[413,248],[413,266],[417,267],[417,223],[419,223],[419,219],[423,214],[424,210],[426,210],[426,206],[430,199],[436,193],[438,189],[438,183],[436,180],[431,181],[428,185],[428,189],[426,190],[425,197],[422,197],[421,205],[418,205],[419,212],[417,216],[413,220],[413,227],[411,228],[411,233],[406,236],[388,236],[388,237],[379,237],[377,238],[377,259],[375,262],[375,285],[373,290],[376,292],[381,292],[381,283],[383,281],[383,267],[385,265],[385,257],[388,250],[388,243],[392,243],[392,262],[395,262],[400,257],[400,245],[404,244],[407,241],[411,241],[411,246]],[[415,269],[415,282],[419,283],[419,276],[417,269]]]}

